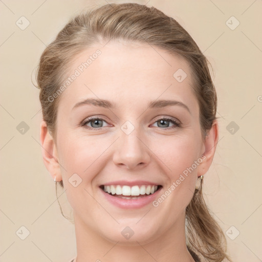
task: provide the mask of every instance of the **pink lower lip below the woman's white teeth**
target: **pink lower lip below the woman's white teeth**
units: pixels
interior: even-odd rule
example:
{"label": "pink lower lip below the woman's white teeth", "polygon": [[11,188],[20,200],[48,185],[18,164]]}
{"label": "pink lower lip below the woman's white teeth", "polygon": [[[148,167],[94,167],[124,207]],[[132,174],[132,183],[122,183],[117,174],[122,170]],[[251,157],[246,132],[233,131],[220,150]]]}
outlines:
{"label": "pink lower lip below the woman's white teeth", "polygon": [[102,191],[106,200],[109,201],[111,204],[117,207],[120,207],[120,208],[132,209],[132,208],[142,208],[148,205],[149,203],[152,203],[157,198],[162,188],[160,188],[153,194],[148,194],[146,195],[146,197],[141,197],[139,199],[122,199],[122,198],[114,197],[113,195],[106,193],[101,188],[99,189]]}

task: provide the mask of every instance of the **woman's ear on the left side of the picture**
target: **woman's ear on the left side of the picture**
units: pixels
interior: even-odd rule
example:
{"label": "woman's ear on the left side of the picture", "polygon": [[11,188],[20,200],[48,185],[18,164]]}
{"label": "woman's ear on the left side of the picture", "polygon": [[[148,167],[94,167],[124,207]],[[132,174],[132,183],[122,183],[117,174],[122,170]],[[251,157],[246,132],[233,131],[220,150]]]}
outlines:
{"label": "woman's ear on the left side of the picture", "polygon": [[47,123],[45,121],[41,121],[40,125],[40,143],[42,146],[42,157],[43,162],[56,181],[61,181],[61,170],[58,162],[58,154],[56,150],[56,145],[52,136],[50,135],[47,127]]}

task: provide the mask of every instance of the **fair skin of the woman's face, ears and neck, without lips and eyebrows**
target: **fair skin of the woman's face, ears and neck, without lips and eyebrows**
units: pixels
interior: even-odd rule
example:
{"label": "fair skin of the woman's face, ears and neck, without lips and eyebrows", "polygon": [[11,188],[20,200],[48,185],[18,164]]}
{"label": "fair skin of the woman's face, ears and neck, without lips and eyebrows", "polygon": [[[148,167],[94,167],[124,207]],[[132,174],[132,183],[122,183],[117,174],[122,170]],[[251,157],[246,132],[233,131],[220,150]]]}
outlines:
{"label": "fair skin of the woman's face, ears and neck, without lips and eyebrows", "polygon": [[[157,47],[120,41],[97,44],[72,61],[69,75],[97,49],[101,55],[61,94],[56,143],[44,121],[40,131],[44,163],[56,181],[63,180],[74,210],[77,262],[192,262],[185,208],[197,178],[211,165],[217,122],[203,140],[189,64]],[[181,83],[173,77],[178,69],[187,74]],[[82,105],[72,110],[86,98],[110,100],[116,108]],[[156,99],[180,101],[190,113],[179,105],[147,108]],[[105,121],[86,124],[92,129],[81,126],[90,116]],[[164,117],[181,125],[161,124]],[[126,121],[135,127],[129,135],[121,130]],[[122,209],[107,202],[98,188],[115,180],[146,180],[162,185],[163,193],[203,154],[205,160],[158,207]],[[82,179],[77,187],[69,183],[74,173]],[[121,234],[126,226],[134,231],[129,239]]]}

